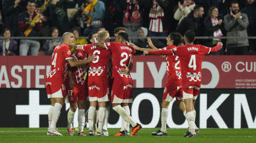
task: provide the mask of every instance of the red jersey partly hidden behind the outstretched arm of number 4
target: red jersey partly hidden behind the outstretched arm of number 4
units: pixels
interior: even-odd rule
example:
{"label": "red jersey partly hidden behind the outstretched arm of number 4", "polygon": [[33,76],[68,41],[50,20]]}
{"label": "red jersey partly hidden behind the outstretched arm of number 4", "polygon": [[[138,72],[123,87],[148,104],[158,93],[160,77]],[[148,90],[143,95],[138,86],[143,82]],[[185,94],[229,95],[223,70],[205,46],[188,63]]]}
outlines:
{"label": "red jersey partly hidden behind the outstretched arm of number 4", "polygon": [[[176,47],[175,45],[170,45],[160,50],[170,50]],[[179,56],[176,55],[166,55],[166,71],[168,78],[171,79],[181,79],[181,64]]]}

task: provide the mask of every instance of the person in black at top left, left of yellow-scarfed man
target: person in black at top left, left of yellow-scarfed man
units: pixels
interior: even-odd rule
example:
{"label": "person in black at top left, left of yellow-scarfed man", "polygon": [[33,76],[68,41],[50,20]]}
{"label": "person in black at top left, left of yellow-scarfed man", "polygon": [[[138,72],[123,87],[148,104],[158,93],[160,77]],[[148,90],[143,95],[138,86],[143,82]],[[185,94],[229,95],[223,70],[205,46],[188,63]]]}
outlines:
{"label": "person in black at top left, left of yellow-scarfed man", "polygon": [[4,14],[4,27],[11,29],[13,36],[19,35],[18,20],[19,14],[25,11],[25,0],[3,0],[2,10]]}

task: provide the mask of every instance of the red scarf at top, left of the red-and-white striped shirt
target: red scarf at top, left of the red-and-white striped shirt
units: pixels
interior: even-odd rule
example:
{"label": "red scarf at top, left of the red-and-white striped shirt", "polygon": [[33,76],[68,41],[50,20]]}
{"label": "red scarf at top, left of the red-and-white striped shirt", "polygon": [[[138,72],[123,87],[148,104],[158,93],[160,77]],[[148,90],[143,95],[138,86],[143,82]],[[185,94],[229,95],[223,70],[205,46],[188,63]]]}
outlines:
{"label": "red scarf at top, left of the red-and-white striped shirt", "polygon": [[[132,5],[132,1],[133,0],[127,0],[126,1],[126,10],[125,10],[125,22],[129,22],[129,21],[138,21],[140,22],[140,7],[139,7],[139,2],[136,1],[136,4],[133,8],[133,12],[129,13],[129,11],[131,10],[131,5]],[[129,19],[131,15],[131,19]]]}

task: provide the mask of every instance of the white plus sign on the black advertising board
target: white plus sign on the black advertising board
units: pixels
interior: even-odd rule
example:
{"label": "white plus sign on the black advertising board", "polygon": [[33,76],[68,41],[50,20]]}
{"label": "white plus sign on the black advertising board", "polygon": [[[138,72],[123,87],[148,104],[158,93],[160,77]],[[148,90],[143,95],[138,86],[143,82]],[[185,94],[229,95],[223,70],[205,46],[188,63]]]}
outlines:
{"label": "white plus sign on the black advertising board", "polygon": [[28,105],[16,105],[16,115],[29,115],[29,127],[39,127],[40,115],[48,115],[51,105],[39,104],[39,90],[30,90],[28,100]]}

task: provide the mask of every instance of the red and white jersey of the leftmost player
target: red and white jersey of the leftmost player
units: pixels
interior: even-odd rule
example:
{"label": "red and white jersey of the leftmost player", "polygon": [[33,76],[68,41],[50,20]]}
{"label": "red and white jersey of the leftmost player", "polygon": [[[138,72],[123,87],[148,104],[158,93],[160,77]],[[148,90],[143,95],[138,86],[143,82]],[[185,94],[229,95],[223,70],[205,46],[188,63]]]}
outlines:
{"label": "red and white jersey of the leftmost player", "polygon": [[72,59],[70,47],[67,44],[59,44],[52,52],[51,70],[46,78],[66,78],[67,59]]}

